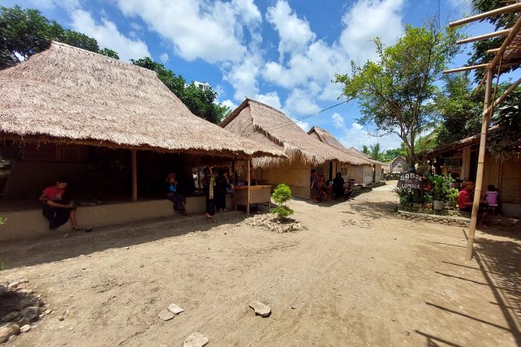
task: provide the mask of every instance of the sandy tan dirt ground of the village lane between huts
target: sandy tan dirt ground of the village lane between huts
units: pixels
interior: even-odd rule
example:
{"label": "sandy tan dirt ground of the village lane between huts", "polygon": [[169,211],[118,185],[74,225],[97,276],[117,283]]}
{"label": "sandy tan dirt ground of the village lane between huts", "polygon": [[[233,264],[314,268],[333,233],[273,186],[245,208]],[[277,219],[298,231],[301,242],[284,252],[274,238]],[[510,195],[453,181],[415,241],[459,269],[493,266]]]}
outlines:
{"label": "sandy tan dirt ground of the village lane between huts", "polygon": [[8,345],[521,346],[521,230],[478,231],[466,262],[465,230],[395,217],[392,187],[292,201],[308,229],[283,234],[228,212],[1,244],[0,277],[57,311]]}

